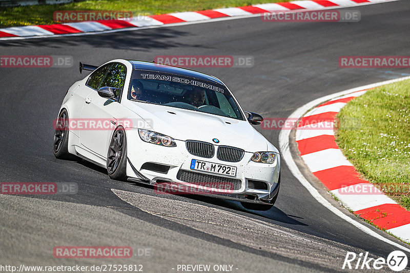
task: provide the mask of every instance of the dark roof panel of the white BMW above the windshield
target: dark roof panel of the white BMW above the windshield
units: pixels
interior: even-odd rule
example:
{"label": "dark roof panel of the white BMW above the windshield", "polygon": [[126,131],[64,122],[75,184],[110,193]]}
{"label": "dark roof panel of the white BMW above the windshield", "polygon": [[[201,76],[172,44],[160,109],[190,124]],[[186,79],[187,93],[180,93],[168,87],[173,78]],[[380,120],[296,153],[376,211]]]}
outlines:
{"label": "dark roof panel of the white BMW above the windshield", "polygon": [[184,69],[182,67],[171,66],[166,64],[159,64],[155,62],[147,62],[147,61],[136,61],[136,60],[128,60],[132,64],[133,70],[148,70],[148,71],[156,71],[168,74],[175,74],[179,76],[185,76],[190,78],[195,78],[199,80],[211,81],[213,83],[223,84],[221,80],[215,78],[214,76],[207,75],[204,73],[200,73],[197,71]]}

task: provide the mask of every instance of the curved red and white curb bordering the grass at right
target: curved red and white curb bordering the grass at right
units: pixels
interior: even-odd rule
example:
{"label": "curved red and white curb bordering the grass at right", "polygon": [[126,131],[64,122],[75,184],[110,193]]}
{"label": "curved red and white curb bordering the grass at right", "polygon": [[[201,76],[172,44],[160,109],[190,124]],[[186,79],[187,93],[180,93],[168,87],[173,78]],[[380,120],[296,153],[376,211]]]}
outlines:
{"label": "curved red and white curb bordering the grass at right", "polygon": [[[296,128],[296,142],[311,172],[354,214],[410,242],[410,212],[360,178],[335,142],[333,124],[340,109],[366,90],[334,98],[305,113]],[[317,129],[323,128],[323,129]]]}

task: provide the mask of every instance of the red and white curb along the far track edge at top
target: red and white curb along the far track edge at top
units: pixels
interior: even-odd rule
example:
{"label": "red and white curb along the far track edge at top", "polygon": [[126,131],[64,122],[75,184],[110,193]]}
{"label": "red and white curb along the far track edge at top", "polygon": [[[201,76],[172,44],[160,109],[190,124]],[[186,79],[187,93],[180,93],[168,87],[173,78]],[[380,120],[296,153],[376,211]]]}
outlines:
{"label": "red and white curb along the far track edge at top", "polygon": [[159,27],[167,24],[202,22],[216,18],[248,17],[275,11],[320,10],[328,8],[392,2],[395,0],[299,0],[286,3],[259,4],[237,8],[223,8],[195,12],[177,12],[118,20],[72,22],[42,26],[11,27],[0,29],[0,40],[17,38],[53,37],[109,32],[120,29]]}

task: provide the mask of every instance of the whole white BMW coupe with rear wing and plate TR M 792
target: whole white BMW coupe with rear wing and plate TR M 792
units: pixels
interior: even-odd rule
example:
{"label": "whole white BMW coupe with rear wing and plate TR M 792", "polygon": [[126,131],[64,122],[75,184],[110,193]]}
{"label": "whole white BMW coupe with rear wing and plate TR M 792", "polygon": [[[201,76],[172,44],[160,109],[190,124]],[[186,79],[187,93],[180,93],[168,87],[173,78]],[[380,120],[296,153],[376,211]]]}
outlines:
{"label": "whole white BMW coupe with rear wing and plate TR M 792", "polygon": [[[219,79],[180,67],[117,59],[67,91],[53,152],[107,169],[112,179],[201,189],[269,210],[280,186],[278,150]],[[192,192],[191,192],[192,193]],[[196,193],[193,191],[193,193]]]}

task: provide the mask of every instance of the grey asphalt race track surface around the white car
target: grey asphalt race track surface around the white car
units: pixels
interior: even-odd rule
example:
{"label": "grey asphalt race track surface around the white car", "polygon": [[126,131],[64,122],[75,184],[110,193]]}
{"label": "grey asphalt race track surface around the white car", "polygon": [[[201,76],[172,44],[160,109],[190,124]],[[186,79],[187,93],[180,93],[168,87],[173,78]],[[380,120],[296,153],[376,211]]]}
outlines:
{"label": "grey asphalt race track surface around the white car", "polygon": [[[361,12],[360,22],[262,22],[253,17],[0,41],[1,55],[74,59],[71,68],[0,69],[0,180],[78,184],[75,195],[0,195],[0,264],[141,264],[144,272],[177,272],[178,264],[228,264],[234,272],[332,272],[342,270],[347,252],[386,258],[397,248],[323,207],[283,162],[278,200],[270,211],[258,213],[232,201],[157,195],[147,186],[110,180],[93,164],[57,160],[52,153],[52,123],[61,101],[67,88],[88,73],[78,73],[79,61],[99,65],[157,55],[253,56],[253,67],[196,70],[220,78],[244,109],[265,118],[286,118],[316,98],[408,76],[405,69],[338,66],[339,56],[408,55],[410,2],[354,9]],[[278,147],[279,130],[259,130]],[[53,247],[61,245],[128,245],[134,257],[56,259]],[[138,256],[138,248],[149,249],[150,255]]]}

